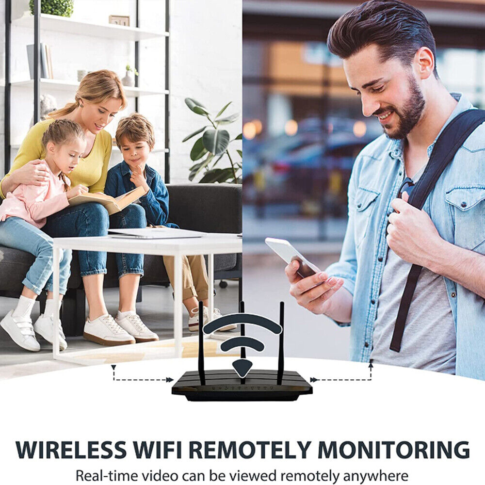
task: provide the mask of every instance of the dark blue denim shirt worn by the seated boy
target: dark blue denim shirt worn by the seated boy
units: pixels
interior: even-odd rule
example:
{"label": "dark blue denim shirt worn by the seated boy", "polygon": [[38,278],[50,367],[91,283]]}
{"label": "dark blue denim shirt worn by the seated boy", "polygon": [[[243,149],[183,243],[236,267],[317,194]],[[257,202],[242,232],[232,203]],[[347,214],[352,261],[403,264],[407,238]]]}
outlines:
{"label": "dark blue denim shirt worn by the seated boy", "polygon": [[[168,190],[160,174],[145,165],[146,183],[150,190],[140,197],[140,205],[145,209],[146,222],[153,226],[178,227],[168,220]],[[127,162],[118,163],[108,171],[104,193],[112,197],[126,194],[135,189],[135,184],[129,179],[131,170]]]}

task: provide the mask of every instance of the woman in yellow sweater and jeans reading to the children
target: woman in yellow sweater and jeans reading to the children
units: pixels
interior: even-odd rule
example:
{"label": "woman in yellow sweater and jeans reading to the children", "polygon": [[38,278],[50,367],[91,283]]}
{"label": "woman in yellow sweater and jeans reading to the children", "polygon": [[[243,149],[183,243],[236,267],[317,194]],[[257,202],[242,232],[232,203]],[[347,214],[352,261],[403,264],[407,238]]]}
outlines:
{"label": "woman in yellow sweater and jeans reading to the children", "polygon": [[[1,197],[5,198],[8,192],[12,192],[21,183],[43,185],[48,181],[42,135],[55,119],[69,119],[79,123],[86,135],[86,150],[78,166],[68,176],[71,186],[83,185],[91,193],[103,192],[113,145],[112,137],[104,127],[125,107],[123,86],[114,72],[100,70],[87,74],[79,85],[74,103],[49,113],[48,119],[39,121],[30,129],[10,172],[0,182]],[[122,212],[109,217],[102,205],[87,203],[68,207],[49,216],[43,230],[51,237],[94,237],[106,236],[109,226],[145,227],[145,212],[131,204]],[[158,339],[135,312],[136,293],[140,276],[143,275],[143,255],[117,254],[116,258],[120,288],[118,321],[129,320],[129,334],[108,314],[104,302],[106,253],[80,251],[78,254],[89,304],[84,337],[103,345],[135,343],[135,339]]]}

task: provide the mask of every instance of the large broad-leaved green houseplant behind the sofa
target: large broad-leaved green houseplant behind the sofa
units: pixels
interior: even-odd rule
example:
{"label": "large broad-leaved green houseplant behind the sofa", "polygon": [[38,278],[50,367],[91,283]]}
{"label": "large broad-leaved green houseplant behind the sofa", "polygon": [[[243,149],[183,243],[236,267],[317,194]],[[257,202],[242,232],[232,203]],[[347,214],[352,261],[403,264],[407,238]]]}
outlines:
{"label": "large broad-leaved green houseplant behind the sofa", "polygon": [[[182,140],[182,142],[186,142],[195,135],[202,133],[202,136],[197,138],[192,150],[190,151],[190,158],[196,163],[190,167],[189,180],[194,180],[194,178],[200,172],[203,172],[202,178],[199,180],[200,183],[241,183],[242,150],[236,150],[240,156],[240,159],[238,159],[238,162],[234,162],[231,154],[229,153],[229,144],[237,140],[242,140],[242,133],[231,140],[229,132],[226,129],[220,128],[221,126],[234,123],[240,116],[239,113],[234,113],[229,116],[222,116],[231,102],[232,101],[228,102],[214,116],[209,113],[203,104],[199,103],[195,99],[190,97],[185,98],[185,104],[189,107],[189,109],[195,114],[204,116],[210,123],[210,125],[203,126]],[[216,167],[217,162],[219,162],[224,156],[227,156],[230,167]]]}

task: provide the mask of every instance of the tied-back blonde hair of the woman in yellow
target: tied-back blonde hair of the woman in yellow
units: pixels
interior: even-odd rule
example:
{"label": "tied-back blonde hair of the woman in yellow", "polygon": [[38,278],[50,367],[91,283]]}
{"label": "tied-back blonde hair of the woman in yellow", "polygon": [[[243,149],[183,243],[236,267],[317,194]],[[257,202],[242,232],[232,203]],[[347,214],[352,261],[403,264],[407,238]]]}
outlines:
{"label": "tied-back blonde hair of the woman in yellow", "polygon": [[108,69],[90,72],[82,78],[74,103],[67,103],[64,108],[52,111],[46,117],[60,118],[72,113],[80,105],[81,98],[90,103],[100,104],[113,97],[121,100],[122,110],[126,108],[127,100],[123,85],[116,73]]}

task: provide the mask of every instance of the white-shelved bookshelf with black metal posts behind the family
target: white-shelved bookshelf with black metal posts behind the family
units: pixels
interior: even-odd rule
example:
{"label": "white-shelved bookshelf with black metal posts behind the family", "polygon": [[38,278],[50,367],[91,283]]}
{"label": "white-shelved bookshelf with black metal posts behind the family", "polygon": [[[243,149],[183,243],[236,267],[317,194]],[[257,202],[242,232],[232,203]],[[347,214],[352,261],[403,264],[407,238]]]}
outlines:
{"label": "white-shelved bookshelf with black metal posts behind the family", "polygon": [[[12,2],[5,3],[5,107],[4,107],[4,169],[5,173],[10,170],[10,158],[12,150],[17,150],[19,145],[11,144],[11,102],[12,90],[33,90],[33,121],[39,120],[40,94],[47,89],[50,91],[72,92],[73,98],[77,81],[41,78],[40,43],[42,31],[61,32],[66,35],[89,35],[90,37],[108,38],[120,42],[134,42],[134,66],[139,70],[140,46],[139,43],[146,39],[160,38],[165,41],[165,49],[161,52],[165,55],[165,85],[164,89],[150,89],[139,87],[139,76],[135,77],[135,86],[124,86],[125,95],[135,100],[135,111],[138,111],[138,98],[142,96],[164,96],[164,145],[156,147],[154,152],[164,153],[164,179],[170,182],[170,149],[169,149],[169,28],[170,28],[170,0],[165,0],[165,29],[161,32],[144,30],[139,27],[140,3],[135,2],[135,27],[126,27],[114,24],[98,24],[79,21],[69,17],[40,13],[40,0],[34,0],[34,15],[23,15],[12,19]],[[34,32],[34,76],[33,79],[16,79],[11,69],[11,32],[15,27],[33,28]],[[113,146],[113,152],[119,151]]]}

